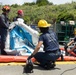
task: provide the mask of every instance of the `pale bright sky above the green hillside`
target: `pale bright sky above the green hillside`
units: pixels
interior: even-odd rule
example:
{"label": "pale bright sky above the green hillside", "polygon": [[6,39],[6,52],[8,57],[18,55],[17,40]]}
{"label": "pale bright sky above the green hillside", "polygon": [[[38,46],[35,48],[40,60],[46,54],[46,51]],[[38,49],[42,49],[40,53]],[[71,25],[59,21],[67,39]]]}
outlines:
{"label": "pale bright sky above the green hillside", "polygon": [[[19,4],[22,5],[25,2],[35,2],[36,0],[0,0],[0,4],[3,5],[12,5],[12,4]],[[65,3],[71,3],[72,1],[76,0],[48,0],[49,2],[52,2],[53,4],[65,4]]]}

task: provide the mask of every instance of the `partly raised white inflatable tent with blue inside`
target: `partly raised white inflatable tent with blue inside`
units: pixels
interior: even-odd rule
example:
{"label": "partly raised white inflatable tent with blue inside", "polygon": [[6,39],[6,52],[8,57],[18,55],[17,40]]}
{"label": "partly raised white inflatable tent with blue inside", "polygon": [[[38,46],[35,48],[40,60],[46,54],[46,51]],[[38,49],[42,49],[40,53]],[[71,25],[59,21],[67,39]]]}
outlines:
{"label": "partly raised white inflatable tent with blue inside", "polygon": [[10,24],[5,48],[7,54],[30,55],[37,45],[39,33],[21,20]]}

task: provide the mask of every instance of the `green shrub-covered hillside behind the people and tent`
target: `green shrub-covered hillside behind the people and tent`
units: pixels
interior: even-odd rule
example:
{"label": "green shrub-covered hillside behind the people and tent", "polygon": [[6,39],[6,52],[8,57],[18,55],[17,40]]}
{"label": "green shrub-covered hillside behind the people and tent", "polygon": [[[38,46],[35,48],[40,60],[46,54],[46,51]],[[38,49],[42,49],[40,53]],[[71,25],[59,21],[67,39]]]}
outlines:
{"label": "green shrub-covered hillside behind the people and tent", "polygon": [[[37,0],[38,3],[45,2],[47,0]],[[36,2],[37,3],[37,2]],[[24,3],[23,5],[11,5],[11,12],[9,17],[12,20],[17,14],[17,10],[22,9],[24,11],[24,20],[27,24],[36,24],[40,19],[45,19],[50,23],[60,22],[62,20],[76,21],[76,2],[66,3],[61,5],[49,5],[44,4],[38,6],[34,3]],[[47,2],[48,3],[48,2]],[[43,4],[43,3],[42,3]]]}

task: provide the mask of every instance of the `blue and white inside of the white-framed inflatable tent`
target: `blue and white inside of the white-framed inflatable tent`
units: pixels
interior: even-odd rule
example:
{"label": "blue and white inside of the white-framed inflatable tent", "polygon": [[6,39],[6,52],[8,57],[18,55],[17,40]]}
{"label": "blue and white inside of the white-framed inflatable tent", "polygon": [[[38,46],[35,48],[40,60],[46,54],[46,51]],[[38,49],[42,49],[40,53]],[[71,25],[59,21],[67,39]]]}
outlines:
{"label": "blue and white inside of the white-framed inflatable tent", "polygon": [[27,32],[23,27],[16,25],[10,31],[10,49],[16,50],[25,48],[28,52],[30,52],[28,47],[32,49],[35,48],[32,42],[31,34]]}

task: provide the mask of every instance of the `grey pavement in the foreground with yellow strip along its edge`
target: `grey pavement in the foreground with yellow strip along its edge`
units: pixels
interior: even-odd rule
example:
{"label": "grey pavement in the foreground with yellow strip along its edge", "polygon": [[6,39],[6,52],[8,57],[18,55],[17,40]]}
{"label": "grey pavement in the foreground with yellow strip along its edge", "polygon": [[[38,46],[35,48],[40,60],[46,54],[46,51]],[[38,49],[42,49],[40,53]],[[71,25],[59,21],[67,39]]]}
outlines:
{"label": "grey pavement in the foreground with yellow strip along its edge", "polygon": [[[3,65],[4,64],[4,65]],[[25,63],[1,63],[0,75],[76,75],[76,61],[56,62],[56,67],[51,70],[34,65],[33,73],[23,73]]]}

